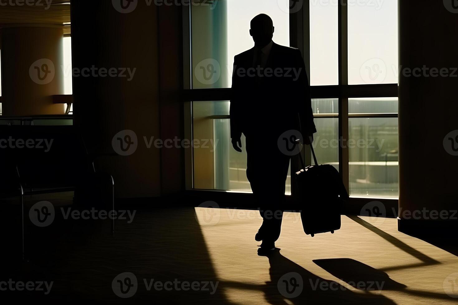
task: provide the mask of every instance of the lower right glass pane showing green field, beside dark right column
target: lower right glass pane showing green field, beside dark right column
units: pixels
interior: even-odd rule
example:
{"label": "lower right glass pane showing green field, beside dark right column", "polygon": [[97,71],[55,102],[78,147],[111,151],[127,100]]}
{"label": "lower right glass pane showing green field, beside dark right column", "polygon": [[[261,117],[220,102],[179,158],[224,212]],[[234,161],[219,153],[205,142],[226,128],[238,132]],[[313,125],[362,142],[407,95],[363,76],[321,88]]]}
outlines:
{"label": "lower right glass pane showing green field, beside dark right column", "polygon": [[351,196],[397,198],[398,118],[349,119]]}

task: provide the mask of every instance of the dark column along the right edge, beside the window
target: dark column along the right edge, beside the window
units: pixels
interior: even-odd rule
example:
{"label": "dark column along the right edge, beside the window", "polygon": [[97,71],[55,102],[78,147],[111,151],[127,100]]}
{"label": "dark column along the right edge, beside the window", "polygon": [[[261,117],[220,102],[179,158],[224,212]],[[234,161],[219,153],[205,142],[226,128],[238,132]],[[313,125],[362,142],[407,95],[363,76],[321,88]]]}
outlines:
{"label": "dark column along the right edge, beside the window", "polygon": [[458,8],[452,3],[399,1],[401,231],[440,236],[457,225],[450,219],[458,209]]}

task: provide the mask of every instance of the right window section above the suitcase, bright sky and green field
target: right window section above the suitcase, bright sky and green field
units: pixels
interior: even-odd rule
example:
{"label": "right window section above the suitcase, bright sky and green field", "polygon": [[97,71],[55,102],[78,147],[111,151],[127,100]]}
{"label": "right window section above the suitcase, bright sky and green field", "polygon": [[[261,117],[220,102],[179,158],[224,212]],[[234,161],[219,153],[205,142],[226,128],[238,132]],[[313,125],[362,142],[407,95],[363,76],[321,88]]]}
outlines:
{"label": "right window section above the suitcase, bright sky and green field", "polygon": [[397,198],[398,0],[311,0],[309,13],[320,163],[338,166],[352,197]]}

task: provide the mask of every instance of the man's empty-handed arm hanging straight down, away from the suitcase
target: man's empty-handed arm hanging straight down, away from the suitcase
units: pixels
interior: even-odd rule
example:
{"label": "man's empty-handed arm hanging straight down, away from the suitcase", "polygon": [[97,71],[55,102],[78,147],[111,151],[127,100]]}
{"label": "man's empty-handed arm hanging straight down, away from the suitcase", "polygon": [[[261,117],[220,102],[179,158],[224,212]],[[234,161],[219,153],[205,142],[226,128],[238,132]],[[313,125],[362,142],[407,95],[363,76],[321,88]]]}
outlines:
{"label": "man's empty-handed arm hanging straight down, away from the suitcase", "polygon": [[234,57],[234,70],[232,73],[232,89],[229,108],[230,137],[232,147],[238,152],[242,152],[242,130],[241,130],[241,105],[240,105],[240,79],[237,76],[237,56]]}

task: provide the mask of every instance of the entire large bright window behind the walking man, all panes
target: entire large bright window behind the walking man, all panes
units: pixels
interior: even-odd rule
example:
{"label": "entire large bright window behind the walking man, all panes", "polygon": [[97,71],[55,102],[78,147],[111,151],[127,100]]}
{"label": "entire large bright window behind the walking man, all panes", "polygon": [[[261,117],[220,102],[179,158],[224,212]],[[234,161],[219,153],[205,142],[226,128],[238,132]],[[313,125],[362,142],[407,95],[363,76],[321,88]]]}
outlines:
{"label": "entire large bright window behind the walking man, all panes", "polygon": [[227,88],[234,55],[253,47],[251,18],[266,13],[274,22],[273,41],[305,54],[318,161],[338,169],[352,197],[397,198],[397,7],[398,0],[310,0],[309,5],[227,0],[191,6],[190,136],[218,141],[213,150],[193,149],[193,187],[250,191],[246,155],[230,147]]}

